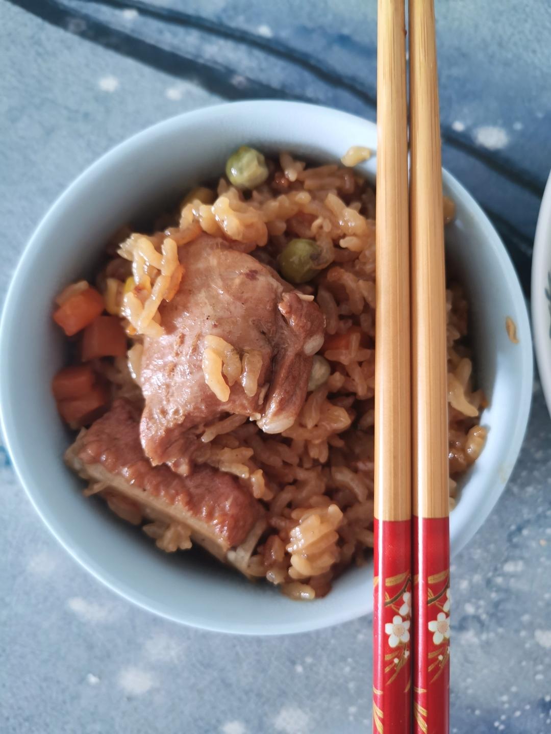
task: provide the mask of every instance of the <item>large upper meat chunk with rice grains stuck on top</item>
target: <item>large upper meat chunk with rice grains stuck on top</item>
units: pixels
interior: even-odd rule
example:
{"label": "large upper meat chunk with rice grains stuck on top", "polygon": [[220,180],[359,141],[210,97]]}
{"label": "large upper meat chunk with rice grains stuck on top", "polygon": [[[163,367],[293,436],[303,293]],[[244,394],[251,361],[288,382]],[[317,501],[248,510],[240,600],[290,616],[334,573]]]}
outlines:
{"label": "large upper meat chunk with rice grains stuck on top", "polygon": [[[181,466],[197,446],[197,428],[222,415],[247,415],[268,433],[291,426],[324,340],[318,306],[230,243],[201,236],[180,248],[180,262],[178,293],[159,309],[165,333],[144,340],[140,435],[154,465]],[[261,361],[255,394],[237,380],[222,401],[208,387],[202,369],[208,337],[222,338],[240,358],[255,353]]]}

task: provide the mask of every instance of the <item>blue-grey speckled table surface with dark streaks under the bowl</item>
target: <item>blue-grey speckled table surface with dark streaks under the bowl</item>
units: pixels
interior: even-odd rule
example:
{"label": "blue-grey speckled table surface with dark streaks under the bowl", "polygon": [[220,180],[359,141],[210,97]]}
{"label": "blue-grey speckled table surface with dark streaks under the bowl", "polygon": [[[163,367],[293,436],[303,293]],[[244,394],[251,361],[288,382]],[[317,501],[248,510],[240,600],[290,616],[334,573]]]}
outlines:
{"label": "blue-grey speckled table surface with dark streaks under the bowl", "polygon": [[[0,293],[62,189],[129,134],[226,99],[374,119],[374,0],[0,0]],[[548,0],[437,1],[445,165],[522,283],[551,167]],[[9,355],[0,355],[2,360]],[[452,730],[551,732],[551,423],[539,384],[497,509],[452,567]],[[205,633],[104,588],[57,545],[0,444],[0,730],[371,730],[371,620],[281,639]]]}

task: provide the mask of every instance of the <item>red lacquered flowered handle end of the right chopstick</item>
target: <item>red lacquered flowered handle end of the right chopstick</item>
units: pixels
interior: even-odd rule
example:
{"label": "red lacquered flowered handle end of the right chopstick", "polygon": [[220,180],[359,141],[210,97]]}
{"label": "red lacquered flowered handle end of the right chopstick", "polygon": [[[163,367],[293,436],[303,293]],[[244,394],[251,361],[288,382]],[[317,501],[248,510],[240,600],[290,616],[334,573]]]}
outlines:
{"label": "red lacquered flowered handle end of the right chopstick", "polygon": [[[450,730],[450,523],[414,517],[415,734]],[[419,549],[419,552],[417,552]]]}

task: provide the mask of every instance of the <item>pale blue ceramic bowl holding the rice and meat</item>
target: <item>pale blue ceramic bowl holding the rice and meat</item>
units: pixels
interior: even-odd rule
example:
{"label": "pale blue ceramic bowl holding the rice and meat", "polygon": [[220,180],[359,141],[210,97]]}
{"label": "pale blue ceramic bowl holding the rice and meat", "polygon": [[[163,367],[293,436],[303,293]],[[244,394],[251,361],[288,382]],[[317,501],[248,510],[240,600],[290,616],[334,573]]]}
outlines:
{"label": "pale blue ceramic bowl holding the rice and meat", "polygon": [[[277,634],[371,611],[371,566],[350,570],[326,598],[297,603],[189,553],[160,553],[103,503],[82,496],[80,480],[62,462],[70,437],[50,391],[63,361],[62,338],[51,320],[54,295],[93,272],[104,241],[119,225],[219,174],[228,154],[244,143],[337,161],[351,145],[376,148],[376,126],[301,103],[244,102],[174,117],[107,153],[52,206],[15,272],[1,322],[0,404],[15,469],[37,512],[104,584],[189,625]],[[374,159],[363,170],[373,178]],[[532,350],[525,301],[503,244],[463,187],[447,173],[444,181],[457,208],[448,228],[448,267],[467,289],[478,384],[489,399],[482,416],[489,428],[486,448],[465,477],[450,520],[456,553],[484,523],[517,459],[532,391]],[[517,324],[518,345],[507,338],[506,316]]]}

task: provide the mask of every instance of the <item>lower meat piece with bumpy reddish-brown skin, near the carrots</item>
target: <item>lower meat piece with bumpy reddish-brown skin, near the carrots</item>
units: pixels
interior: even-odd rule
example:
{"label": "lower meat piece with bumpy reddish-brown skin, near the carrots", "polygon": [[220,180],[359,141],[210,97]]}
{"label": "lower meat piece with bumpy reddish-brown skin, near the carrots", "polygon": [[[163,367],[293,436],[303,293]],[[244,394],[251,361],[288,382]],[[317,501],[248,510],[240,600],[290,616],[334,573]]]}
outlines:
{"label": "lower meat piece with bumpy reddish-brown skin, near the carrots", "polygon": [[209,466],[197,466],[186,477],[151,466],[138,418],[131,403],[115,400],[106,415],[81,431],[65,461],[84,479],[101,483],[108,497],[120,493],[136,504],[145,517],[189,528],[191,537],[222,560],[242,546],[252,552],[266,526],[258,501],[236,477]]}

